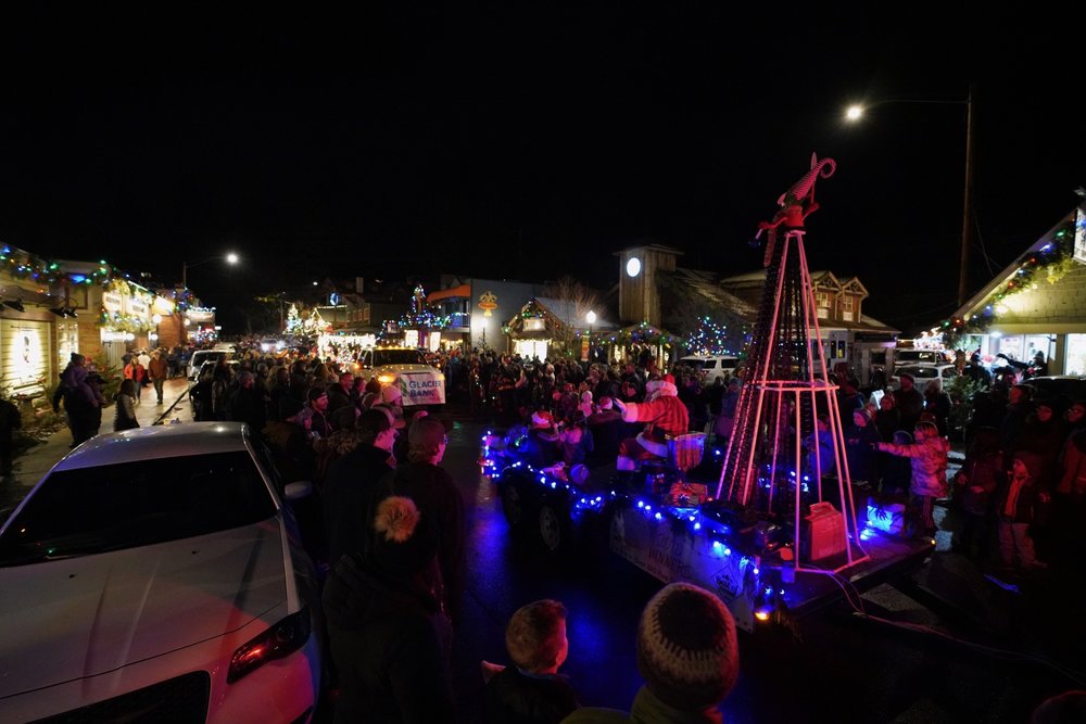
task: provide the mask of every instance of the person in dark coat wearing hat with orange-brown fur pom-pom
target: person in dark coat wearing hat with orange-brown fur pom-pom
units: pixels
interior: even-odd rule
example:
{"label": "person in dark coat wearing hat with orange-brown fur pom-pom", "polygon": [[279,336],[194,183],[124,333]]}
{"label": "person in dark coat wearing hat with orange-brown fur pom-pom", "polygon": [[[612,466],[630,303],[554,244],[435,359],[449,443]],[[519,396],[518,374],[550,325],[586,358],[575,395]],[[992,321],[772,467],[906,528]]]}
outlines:
{"label": "person in dark coat wearing hat with orange-brown fur pom-pom", "polygon": [[455,721],[452,627],[426,575],[439,533],[411,498],[380,501],[374,545],[344,556],[325,584],[325,619],[340,696],[333,721]]}

